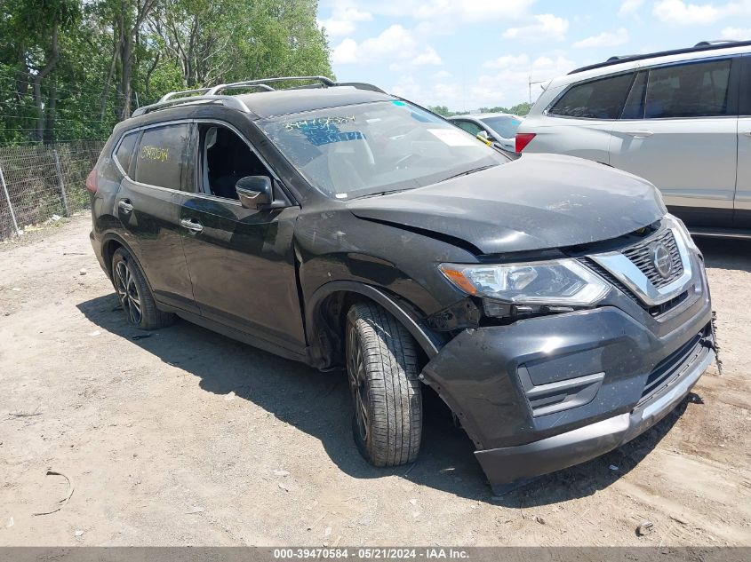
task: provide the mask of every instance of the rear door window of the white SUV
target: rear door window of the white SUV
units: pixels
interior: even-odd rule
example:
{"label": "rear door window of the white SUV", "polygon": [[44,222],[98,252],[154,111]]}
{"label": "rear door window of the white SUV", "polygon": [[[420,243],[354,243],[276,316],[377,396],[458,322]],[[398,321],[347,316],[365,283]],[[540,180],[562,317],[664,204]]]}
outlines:
{"label": "rear door window of the white SUV", "polygon": [[694,62],[650,71],[644,116],[727,115],[731,61]]}

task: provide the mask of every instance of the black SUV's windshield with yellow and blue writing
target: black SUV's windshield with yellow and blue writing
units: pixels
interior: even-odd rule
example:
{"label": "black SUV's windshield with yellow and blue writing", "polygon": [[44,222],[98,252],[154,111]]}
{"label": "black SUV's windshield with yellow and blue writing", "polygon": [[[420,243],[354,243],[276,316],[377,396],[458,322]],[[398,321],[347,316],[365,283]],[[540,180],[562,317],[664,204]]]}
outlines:
{"label": "black SUV's windshield with yellow and blue writing", "polygon": [[428,186],[507,162],[400,100],[284,115],[260,127],[311,185],[337,199]]}

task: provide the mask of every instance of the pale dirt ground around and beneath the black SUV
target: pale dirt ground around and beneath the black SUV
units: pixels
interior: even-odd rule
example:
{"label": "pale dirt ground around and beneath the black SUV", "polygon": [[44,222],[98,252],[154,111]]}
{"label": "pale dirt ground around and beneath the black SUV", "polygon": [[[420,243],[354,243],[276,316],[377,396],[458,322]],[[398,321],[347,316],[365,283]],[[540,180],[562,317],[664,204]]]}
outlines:
{"label": "pale dirt ground around and beneath the black SUV", "polygon": [[90,224],[0,244],[0,545],[751,544],[751,242],[699,242],[723,375],[627,446],[495,498],[440,408],[418,463],[374,469],[345,376],[185,321],[134,338]]}

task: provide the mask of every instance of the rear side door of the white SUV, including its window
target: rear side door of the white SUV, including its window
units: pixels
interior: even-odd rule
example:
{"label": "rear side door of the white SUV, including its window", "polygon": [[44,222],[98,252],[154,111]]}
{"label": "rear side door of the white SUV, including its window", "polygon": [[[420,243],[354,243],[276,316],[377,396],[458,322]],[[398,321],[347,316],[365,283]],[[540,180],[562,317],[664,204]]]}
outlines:
{"label": "rear side door of the white SUV, including its window", "polygon": [[640,72],[612,129],[611,165],[651,181],[689,226],[731,226],[738,60]]}

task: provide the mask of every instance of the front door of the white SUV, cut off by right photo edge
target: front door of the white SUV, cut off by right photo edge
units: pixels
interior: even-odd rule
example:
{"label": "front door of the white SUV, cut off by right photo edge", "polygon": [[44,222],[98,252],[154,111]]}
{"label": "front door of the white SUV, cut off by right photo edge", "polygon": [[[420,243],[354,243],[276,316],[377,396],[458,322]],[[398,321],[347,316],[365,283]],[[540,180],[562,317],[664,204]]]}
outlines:
{"label": "front door of the white SUV, cut off by right photo edge", "polygon": [[751,228],[751,53],[741,58],[738,178],[733,226]]}

